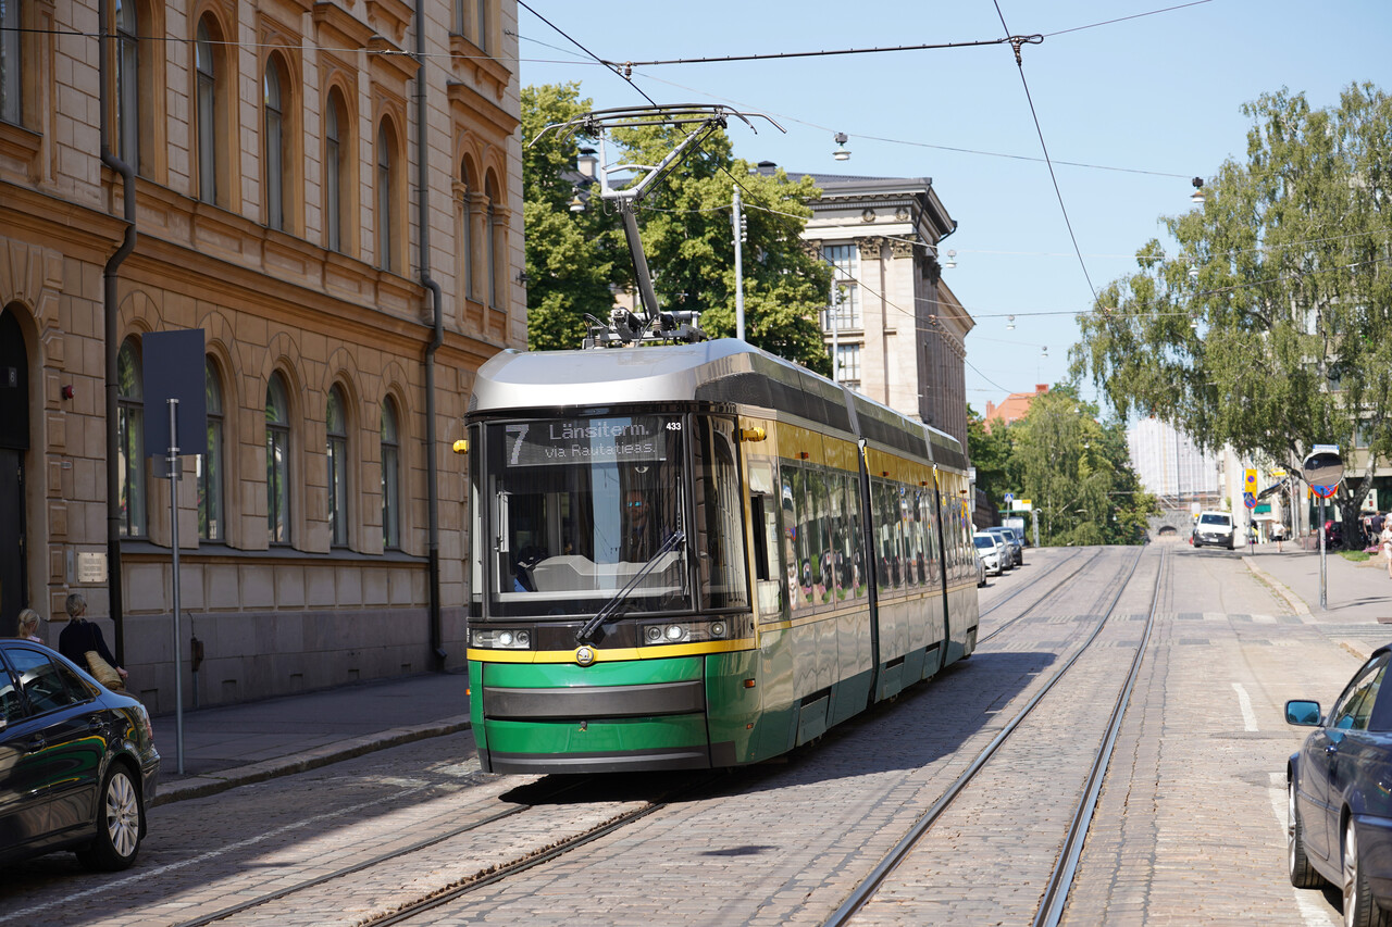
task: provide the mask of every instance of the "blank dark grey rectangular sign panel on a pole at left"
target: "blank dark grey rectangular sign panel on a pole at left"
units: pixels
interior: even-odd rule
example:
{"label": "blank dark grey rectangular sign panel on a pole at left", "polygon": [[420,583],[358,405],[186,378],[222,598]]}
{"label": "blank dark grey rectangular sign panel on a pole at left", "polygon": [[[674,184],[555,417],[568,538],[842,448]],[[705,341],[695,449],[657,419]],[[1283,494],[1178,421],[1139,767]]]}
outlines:
{"label": "blank dark grey rectangular sign panel on a pole at left", "polygon": [[152,331],[142,340],[142,355],[145,457],[167,457],[170,452],[171,398],[178,399],[180,455],[207,454],[203,330]]}

